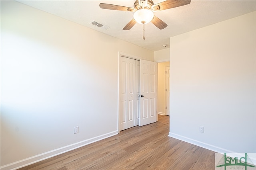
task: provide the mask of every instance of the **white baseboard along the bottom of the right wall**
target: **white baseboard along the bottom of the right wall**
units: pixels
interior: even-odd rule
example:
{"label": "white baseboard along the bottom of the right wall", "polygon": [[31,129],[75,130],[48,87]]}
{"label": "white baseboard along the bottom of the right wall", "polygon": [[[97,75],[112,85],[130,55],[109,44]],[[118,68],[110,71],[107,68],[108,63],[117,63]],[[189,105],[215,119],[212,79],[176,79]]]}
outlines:
{"label": "white baseboard along the bottom of the right wall", "polygon": [[220,148],[220,147],[216,147],[214,145],[210,145],[208,143],[204,143],[204,142],[201,142],[201,141],[196,141],[194,139],[191,139],[191,138],[188,138],[188,137],[184,137],[184,136],[181,136],[181,135],[178,135],[178,134],[175,134],[175,133],[169,133],[168,136],[169,137],[173,137],[175,139],[179,139],[179,140],[187,142],[187,143],[191,143],[191,144],[196,145],[198,147],[202,147],[202,148],[205,148],[205,149],[208,149],[208,150],[212,150],[214,152],[218,152],[218,153],[234,153],[231,150],[227,150],[227,149],[223,149],[223,148]]}

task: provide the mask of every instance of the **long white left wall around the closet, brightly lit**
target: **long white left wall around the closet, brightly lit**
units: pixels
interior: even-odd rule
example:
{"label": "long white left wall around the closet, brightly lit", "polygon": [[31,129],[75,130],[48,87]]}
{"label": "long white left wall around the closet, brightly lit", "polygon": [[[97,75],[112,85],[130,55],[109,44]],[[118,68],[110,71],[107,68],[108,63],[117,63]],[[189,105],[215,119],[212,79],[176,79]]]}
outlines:
{"label": "long white left wall around the closet, brightly lit", "polygon": [[154,60],[153,51],[1,1],[1,169],[118,133],[119,51]]}

